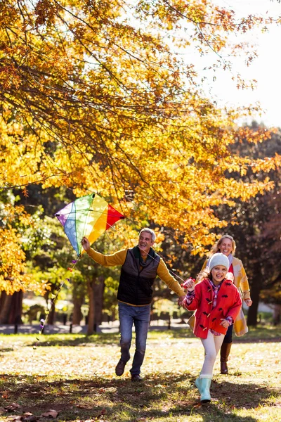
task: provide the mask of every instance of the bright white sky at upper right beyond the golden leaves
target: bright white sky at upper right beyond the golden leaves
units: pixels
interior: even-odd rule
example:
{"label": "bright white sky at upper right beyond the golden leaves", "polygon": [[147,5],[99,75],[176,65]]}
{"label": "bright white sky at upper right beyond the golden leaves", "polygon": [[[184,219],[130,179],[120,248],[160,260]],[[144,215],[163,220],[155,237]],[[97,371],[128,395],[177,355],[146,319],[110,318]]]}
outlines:
{"label": "bright white sky at upper right beyond the golden leaves", "polygon": [[[268,15],[275,18],[281,15],[281,3],[277,0],[214,0],[214,2],[219,6],[233,9],[238,18],[249,14]],[[254,32],[243,34],[240,39],[235,39],[235,41],[240,40],[254,42],[259,56],[249,67],[244,65],[244,60],[241,58],[234,58],[233,71],[240,72],[242,77],[247,79],[256,79],[256,89],[254,91],[237,89],[235,82],[231,79],[232,75],[221,70],[217,73],[215,82],[211,77],[208,90],[211,90],[211,96],[218,101],[219,106],[225,104],[247,106],[258,101],[264,114],[262,117],[256,115],[255,120],[263,122],[268,127],[281,127],[281,52],[279,47],[281,25],[272,25],[266,33],[254,30]],[[213,62],[216,59],[214,56],[216,56],[215,53],[209,54],[209,59]]]}

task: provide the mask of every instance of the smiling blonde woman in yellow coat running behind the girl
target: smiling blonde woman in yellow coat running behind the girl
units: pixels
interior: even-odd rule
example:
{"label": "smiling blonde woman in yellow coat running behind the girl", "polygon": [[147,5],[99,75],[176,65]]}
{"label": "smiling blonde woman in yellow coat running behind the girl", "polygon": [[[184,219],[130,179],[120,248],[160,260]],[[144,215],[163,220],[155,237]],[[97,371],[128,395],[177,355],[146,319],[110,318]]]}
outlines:
{"label": "smiling blonde woman in yellow coat running behind the girl", "polygon": [[[212,246],[208,257],[210,258],[217,252],[223,253],[228,257],[229,269],[228,271],[233,274],[233,283],[238,290],[242,293],[242,299],[247,306],[251,306],[251,296],[249,290],[249,283],[247,279],[246,272],[244,270],[242,261],[238,260],[235,255],[236,244],[232,236],[228,234],[221,236],[218,241]],[[204,262],[202,270],[207,267],[209,260]],[[248,332],[247,323],[242,311],[237,316],[237,319],[234,324],[234,331],[236,335],[243,335]],[[228,331],[221,345],[221,373],[228,373],[228,356],[230,354],[231,345],[233,344],[233,325],[228,327]]]}

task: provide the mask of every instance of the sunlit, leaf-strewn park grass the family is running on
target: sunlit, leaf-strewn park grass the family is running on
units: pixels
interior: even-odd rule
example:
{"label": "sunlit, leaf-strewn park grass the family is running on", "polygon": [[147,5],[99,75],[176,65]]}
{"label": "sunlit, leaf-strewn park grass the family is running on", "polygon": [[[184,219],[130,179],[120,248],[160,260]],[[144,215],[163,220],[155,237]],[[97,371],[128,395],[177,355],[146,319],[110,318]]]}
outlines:
{"label": "sunlit, leaf-strewn park grass the family is running on", "polygon": [[115,376],[119,335],[0,335],[0,421],[50,421],[50,409],[61,422],[281,421],[280,340],[280,327],[264,326],[235,338],[230,374],[216,362],[201,405],[204,353],[190,330],[150,331],[142,383],[131,383],[131,362]]}

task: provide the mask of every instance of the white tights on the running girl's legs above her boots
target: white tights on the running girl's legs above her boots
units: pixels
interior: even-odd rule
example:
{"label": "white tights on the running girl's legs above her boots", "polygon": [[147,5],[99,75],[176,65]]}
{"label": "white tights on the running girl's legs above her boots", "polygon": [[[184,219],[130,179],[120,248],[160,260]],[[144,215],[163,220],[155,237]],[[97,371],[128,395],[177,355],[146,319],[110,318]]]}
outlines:
{"label": "white tights on the running girl's legs above her boots", "polygon": [[[208,330],[207,338],[201,338],[202,345],[205,350],[205,359],[200,375],[211,378],[213,376],[213,368],[216,362],[216,355],[223,344],[224,335],[214,335]],[[203,377],[202,377],[203,378]]]}

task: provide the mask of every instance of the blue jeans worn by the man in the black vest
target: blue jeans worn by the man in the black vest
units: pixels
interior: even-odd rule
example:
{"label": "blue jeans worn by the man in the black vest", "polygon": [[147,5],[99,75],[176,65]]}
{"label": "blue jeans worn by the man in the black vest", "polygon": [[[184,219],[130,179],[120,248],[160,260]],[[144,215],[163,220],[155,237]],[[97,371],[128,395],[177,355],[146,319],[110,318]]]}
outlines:
{"label": "blue jeans worn by the man in the black vest", "polygon": [[133,324],[136,331],[136,350],[133,356],[131,375],[141,373],[141,365],[145,357],[146,339],[148,338],[148,326],[150,323],[150,305],[131,306],[118,302],[120,321],[120,347],[121,360],[128,362],[130,359],[131,339]]}

